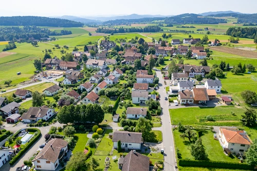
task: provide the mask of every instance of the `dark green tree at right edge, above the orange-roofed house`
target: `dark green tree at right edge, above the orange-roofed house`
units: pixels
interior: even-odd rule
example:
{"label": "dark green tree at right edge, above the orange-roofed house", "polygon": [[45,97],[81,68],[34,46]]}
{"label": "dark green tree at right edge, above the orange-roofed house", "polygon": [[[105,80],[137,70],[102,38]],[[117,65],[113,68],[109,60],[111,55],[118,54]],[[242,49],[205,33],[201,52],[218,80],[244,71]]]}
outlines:
{"label": "dark green tree at right edge, above the orange-roofed house", "polygon": [[241,122],[244,126],[254,127],[256,126],[256,111],[253,108],[246,108],[244,112],[245,116],[242,115]]}

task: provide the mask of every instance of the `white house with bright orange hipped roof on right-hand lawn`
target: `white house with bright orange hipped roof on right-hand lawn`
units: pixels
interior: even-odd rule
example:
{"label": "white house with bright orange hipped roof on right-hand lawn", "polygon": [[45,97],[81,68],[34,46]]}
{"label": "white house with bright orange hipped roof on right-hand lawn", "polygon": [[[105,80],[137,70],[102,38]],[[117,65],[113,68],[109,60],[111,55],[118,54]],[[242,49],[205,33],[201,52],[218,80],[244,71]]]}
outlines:
{"label": "white house with bright orange hipped roof on right-hand lawn", "polygon": [[219,128],[219,137],[223,144],[223,148],[229,149],[236,155],[244,153],[252,144],[250,137],[244,130]]}

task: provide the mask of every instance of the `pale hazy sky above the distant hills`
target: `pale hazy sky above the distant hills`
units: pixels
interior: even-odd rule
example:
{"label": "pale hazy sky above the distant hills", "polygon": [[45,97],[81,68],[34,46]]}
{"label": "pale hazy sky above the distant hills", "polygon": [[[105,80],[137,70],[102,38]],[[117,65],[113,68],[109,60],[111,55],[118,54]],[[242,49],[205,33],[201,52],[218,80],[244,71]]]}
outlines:
{"label": "pale hazy sky above the distant hills", "polygon": [[12,0],[0,5],[0,16],[112,16],[112,15],[178,15],[209,11],[257,13],[256,0]]}

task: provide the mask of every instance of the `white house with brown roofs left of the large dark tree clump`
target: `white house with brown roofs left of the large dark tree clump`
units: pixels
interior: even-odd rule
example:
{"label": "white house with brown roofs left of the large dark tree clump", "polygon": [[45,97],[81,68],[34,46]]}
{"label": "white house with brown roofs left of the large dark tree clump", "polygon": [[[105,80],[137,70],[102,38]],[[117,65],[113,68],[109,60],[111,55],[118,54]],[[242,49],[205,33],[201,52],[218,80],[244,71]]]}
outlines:
{"label": "white house with brown roofs left of the large dark tree clump", "polygon": [[21,119],[26,123],[38,122],[41,119],[47,121],[54,115],[54,109],[47,106],[30,107],[26,113],[23,113]]}

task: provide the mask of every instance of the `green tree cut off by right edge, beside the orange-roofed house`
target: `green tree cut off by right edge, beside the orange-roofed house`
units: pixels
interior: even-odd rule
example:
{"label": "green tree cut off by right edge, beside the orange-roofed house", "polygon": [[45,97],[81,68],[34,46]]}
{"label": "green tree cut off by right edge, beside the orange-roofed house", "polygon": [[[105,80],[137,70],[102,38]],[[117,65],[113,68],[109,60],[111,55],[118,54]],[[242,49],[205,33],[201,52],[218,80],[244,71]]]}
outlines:
{"label": "green tree cut off by right edge, beside the orange-roofed house", "polygon": [[245,152],[246,163],[257,166],[257,139],[252,141],[250,148]]}

